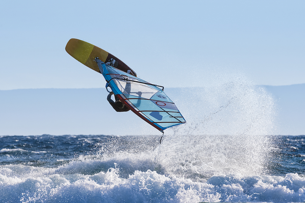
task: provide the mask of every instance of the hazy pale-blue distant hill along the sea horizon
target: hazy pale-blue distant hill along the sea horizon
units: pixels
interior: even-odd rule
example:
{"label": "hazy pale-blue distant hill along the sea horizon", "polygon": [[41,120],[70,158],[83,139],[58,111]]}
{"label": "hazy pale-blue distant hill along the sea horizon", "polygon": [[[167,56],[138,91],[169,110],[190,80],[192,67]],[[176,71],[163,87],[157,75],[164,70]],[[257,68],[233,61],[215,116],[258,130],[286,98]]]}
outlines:
{"label": "hazy pale-blue distant hill along the sea horizon", "polygon": [[[279,133],[304,135],[305,84],[263,87],[276,102]],[[187,105],[180,98],[188,92],[166,88],[184,112]],[[133,112],[114,111],[107,95],[105,88],[0,90],[0,135],[160,134]]]}

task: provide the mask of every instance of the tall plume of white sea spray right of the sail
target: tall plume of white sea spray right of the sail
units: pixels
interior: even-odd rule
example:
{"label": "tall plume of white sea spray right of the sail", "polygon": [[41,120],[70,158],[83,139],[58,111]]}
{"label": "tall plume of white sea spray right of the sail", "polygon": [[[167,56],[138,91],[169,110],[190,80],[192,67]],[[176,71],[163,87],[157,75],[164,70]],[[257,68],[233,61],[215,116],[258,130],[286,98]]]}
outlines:
{"label": "tall plume of white sea spray right of the sail", "polygon": [[219,174],[268,172],[273,98],[244,77],[230,80],[181,93],[179,108],[187,123],[169,129],[156,149],[168,174],[204,181]]}

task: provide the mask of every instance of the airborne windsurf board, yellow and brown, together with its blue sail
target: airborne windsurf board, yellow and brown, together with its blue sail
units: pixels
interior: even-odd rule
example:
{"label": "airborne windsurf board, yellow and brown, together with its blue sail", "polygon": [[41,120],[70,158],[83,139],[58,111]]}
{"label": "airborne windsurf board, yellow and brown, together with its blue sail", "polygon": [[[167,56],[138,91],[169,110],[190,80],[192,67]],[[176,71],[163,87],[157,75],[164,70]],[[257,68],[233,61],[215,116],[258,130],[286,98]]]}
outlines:
{"label": "airborne windsurf board, yellow and brown, together with its blue sail", "polygon": [[110,86],[125,106],[156,129],[163,132],[166,128],[185,123],[162,86],[137,78],[130,67],[112,54],[78,39],[70,39],[66,51],[77,61],[102,73],[107,81],[106,88]]}

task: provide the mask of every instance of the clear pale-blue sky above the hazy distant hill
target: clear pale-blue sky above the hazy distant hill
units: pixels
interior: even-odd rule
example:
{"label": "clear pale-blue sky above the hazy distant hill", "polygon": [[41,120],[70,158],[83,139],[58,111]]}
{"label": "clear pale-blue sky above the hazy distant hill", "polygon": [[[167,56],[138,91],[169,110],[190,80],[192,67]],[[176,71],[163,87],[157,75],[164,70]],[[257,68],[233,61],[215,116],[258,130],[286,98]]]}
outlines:
{"label": "clear pale-blue sky above the hazy distant hill", "polygon": [[[100,88],[65,51],[77,38],[165,87],[241,74],[305,83],[305,1],[2,1],[0,90]],[[221,76],[220,76],[221,75]]]}

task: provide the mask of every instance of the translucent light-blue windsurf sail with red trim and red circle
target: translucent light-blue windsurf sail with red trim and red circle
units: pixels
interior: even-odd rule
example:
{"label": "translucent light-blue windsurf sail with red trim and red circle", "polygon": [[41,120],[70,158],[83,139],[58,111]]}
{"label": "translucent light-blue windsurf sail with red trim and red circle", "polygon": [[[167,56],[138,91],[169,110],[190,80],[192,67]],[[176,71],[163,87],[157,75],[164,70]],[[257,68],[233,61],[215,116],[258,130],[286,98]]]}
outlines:
{"label": "translucent light-blue windsurf sail with red trim and red circle", "polygon": [[162,86],[107,65],[99,58],[95,58],[95,61],[117,98],[144,121],[161,132],[185,123],[174,102],[163,92]]}

